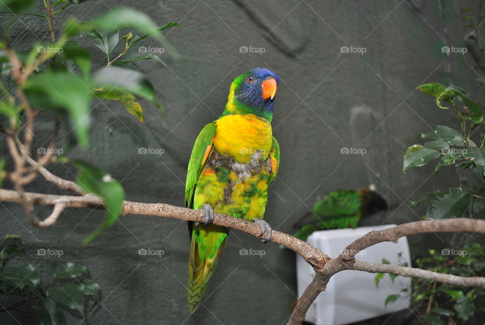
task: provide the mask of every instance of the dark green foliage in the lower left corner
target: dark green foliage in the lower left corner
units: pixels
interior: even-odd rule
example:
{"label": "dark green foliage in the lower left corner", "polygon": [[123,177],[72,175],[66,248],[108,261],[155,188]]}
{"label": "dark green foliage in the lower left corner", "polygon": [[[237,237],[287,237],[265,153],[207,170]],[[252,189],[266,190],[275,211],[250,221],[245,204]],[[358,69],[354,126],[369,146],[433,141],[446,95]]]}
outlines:
{"label": "dark green foliage in the lower left corner", "polygon": [[[37,255],[60,256],[60,252],[39,249]],[[89,280],[87,268],[68,262],[42,284],[37,269],[40,263],[10,264],[19,255],[33,258],[20,236],[6,235],[0,241],[0,312],[17,310],[42,325],[54,325],[65,323],[63,311],[66,309],[85,319],[86,312],[89,315],[99,306],[100,286]],[[25,258],[22,260],[25,261]]]}

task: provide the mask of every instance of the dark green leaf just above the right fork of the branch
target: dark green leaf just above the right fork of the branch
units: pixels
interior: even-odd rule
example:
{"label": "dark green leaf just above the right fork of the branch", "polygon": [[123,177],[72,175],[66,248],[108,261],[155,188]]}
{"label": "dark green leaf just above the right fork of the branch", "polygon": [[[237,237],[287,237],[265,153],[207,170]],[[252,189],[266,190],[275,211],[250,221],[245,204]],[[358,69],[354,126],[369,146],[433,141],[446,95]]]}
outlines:
{"label": "dark green leaf just above the right fork of the branch", "polygon": [[431,200],[426,211],[428,219],[461,218],[471,205],[472,196],[461,188],[450,188],[450,193]]}

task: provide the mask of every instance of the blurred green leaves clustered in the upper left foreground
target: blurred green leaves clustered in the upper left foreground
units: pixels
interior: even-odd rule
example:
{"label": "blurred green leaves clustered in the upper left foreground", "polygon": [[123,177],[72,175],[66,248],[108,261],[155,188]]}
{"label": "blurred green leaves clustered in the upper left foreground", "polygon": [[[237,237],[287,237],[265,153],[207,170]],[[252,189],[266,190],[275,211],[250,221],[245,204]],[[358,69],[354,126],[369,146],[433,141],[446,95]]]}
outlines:
{"label": "blurred green leaves clustered in the upper left foreground", "polygon": [[[56,16],[70,6],[77,6],[89,0],[57,0],[34,2],[27,0],[4,0],[0,13],[6,19],[6,28],[0,32],[0,128],[5,120],[10,129],[21,132],[25,127],[25,101],[38,111],[50,112],[61,120],[69,136],[68,148],[72,144],[86,147],[89,144],[89,128],[92,101],[115,100],[122,103],[126,111],[139,121],[143,121],[143,108],[138,98],[153,103],[163,113],[155,89],[141,72],[134,70],[141,60],[154,60],[166,64],[158,55],[147,53],[147,47],[140,42],[152,37],[161,40],[162,31],[168,28],[185,28],[176,22],[157,25],[148,15],[129,8],[115,8],[89,21],[68,18],[59,30],[54,29]],[[39,6],[43,3],[43,6]],[[39,8],[40,9],[39,9]],[[10,46],[9,32],[18,23],[19,15],[34,15],[46,20],[45,28],[50,31],[51,39],[34,44],[26,51],[18,51]],[[23,25],[25,28],[27,26]],[[57,24],[56,24],[57,26]],[[106,55],[106,66],[92,71],[91,52],[75,39],[77,35],[87,35],[95,49]],[[121,36],[123,35],[123,36]],[[121,42],[122,47],[118,46]],[[149,47],[150,48],[150,47]],[[163,48],[157,53],[163,53]],[[98,64],[93,64],[98,63]],[[116,66],[115,66],[116,65]],[[121,67],[122,65],[129,68]],[[18,67],[18,71],[15,69]],[[15,70],[14,70],[15,69]],[[20,74],[21,80],[15,78]],[[121,107],[123,107],[121,106]],[[68,152],[69,150],[64,150]],[[67,153],[68,154],[68,153]],[[107,173],[90,166],[86,162],[61,158],[77,167],[78,185],[86,192],[101,197],[108,210],[105,222],[89,235],[88,243],[108,226],[115,223],[121,213],[124,190],[119,182]],[[0,157],[0,186],[6,175],[5,160]],[[81,291],[79,291],[79,295]],[[46,304],[49,306],[49,304]]]}

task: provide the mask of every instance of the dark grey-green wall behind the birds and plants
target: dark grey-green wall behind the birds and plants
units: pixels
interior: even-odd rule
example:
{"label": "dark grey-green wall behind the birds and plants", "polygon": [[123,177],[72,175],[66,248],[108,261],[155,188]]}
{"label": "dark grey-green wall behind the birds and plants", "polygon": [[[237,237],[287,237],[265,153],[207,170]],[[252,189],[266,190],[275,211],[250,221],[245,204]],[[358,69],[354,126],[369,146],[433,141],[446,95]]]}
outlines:
{"label": "dark grey-green wall behind the birds and plants", "polygon": [[[456,185],[458,177],[451,168],[444,169],[439,179],[429,182],[431,166],[402,173],[404,151],[416,134],[447,124],[452,116],[415,88],[439,82],[482,98],[475,82],[478,75],[463,56],[441,52],[443,45],[463,46],[470,29],[463,26],[460,9],[476,12],[478,3],[91,0],[71,6],[56,17],[58,29],[70,16],[87,20],[118,5],[134,6],[160,25],[178,21],[190,29],[166,32],[162,45],[144,40],[145,46],[166,49],[162,59],[168,67],[151,60],[136,65],[157,90],[166,126],[150,103],[141,101],[144,122],[139,123],[121,104],[96,101],[90,147],[71,155],[109,171],[121,181],[128,200],[183,206],[187,162],[198,133],[222,112],[235,76],[252,67],[268,67],[280,77],[273,133],[281,147],[281,165],[265,215],[273,229],[292,231],[293,222],[330,190],[369,183],[376,185],[390,209],[366,225],[418,220],[422,211],[409,209],[409,199]],[[0,17],[0,26],[5,26],[6,16]],[[41,18],[20,18],[22,23],[14,29],[16,49],[49,39]],[[86,37],[78,40],[96,53],[101,67],[104,55]],[[265,52],[240,53],[241,46]],[[366,52],[341,53],[343,46],[363,47]],[[50,116],[40,116],[35,132],[41,141],[36,146],[47,144],[52,126]],[[1,143],[6,156],[4,139]],[[142,155],[139,147],[163,148],[165,153]],[[366,154],[341,154],[343,147],[364,148]],[[71,166],[50,170],[74,179]],[[62,193],[40,179],[28,190]],[[50,210],[36,211],[45,216]],[[289,316],[288,306],[296,295],[292,252],[273,243],[263,246],[253,236],[233,231],[205,295],[205,307],[189,315],[185,223],[128,215],[83,246],[82,239],[104,215],[71,209],[54,227],[39,230],[29,224],[20,205],[2,203],[0,236],[22,235],[34,254],[30,260],[40,263],[45,274],[67,261],[89,268],[104,300],[84,323],[279,324]],[[411,245],[419,245],[410,239]],[[38,248],[63,250],[64,255],[40,257],[35,255]],[[141,248],[164,250],[165,255],[139,256]],[[265,255],[240,256],[243,248],[265,250]],[[65,315],[68,323],[79,322]]]}

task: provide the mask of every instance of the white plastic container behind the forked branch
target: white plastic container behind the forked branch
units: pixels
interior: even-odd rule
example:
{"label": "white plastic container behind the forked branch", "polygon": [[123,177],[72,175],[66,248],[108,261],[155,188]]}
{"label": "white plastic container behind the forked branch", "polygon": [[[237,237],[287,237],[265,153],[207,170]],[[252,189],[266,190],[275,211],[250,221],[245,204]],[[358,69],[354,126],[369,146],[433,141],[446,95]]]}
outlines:
{"label": "white plastic container behind the forked branch", "polygon": [[[307,241],[331,258],[336,258],[355,239],[372,230],[392,226],[395,225],[316,231]],[[401,257],[398,253],[401,253]],[[357,254],[356,259],[373,263],[382,263],[382,259],[386,259],[391,264],[407,263],[407,266],[411,266],[406,237],[399,238],[397,243],[380,242]],[[313,268],[297,254],[298,297],[303,294],[314,277]],[[326,290],[320,293],[308,309],[305,320],[317,325],[340,325],[409,307],[410,277],[397,276],[393,282],[391,277],[385,274],[378,287],[375,286],[374,278],[374,273],[363,271],[346,270],[334,274],[328,281]],[[407,289],[407,292],[401,292],[402,289]],[[401,294],[401,297],[384,307],[385,298],[392,294]]]}

